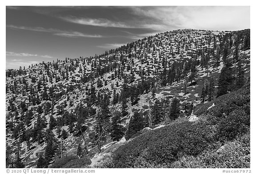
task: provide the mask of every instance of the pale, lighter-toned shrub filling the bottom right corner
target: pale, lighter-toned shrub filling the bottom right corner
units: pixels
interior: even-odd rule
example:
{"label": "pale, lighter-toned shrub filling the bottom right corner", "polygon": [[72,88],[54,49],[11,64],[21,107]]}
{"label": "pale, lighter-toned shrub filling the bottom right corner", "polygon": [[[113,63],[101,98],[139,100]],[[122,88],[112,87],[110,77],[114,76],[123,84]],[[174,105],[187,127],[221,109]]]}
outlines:
{"label": "pale, lighter-toned shrub filling the bottom right corner", "polygon": [[225,149],[204,151],[194,156],[183,156],[169,168],[250,168],[250,134],[237,137],[234,141],[225,144]]}

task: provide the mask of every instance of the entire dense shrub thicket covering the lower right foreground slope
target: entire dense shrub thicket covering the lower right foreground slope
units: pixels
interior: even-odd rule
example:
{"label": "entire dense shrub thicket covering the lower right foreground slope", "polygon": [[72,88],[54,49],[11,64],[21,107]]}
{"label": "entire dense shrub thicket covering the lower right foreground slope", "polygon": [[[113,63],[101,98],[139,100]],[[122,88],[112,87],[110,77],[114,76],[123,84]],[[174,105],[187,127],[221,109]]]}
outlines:
{"label": "entire dense shrub thicket covering the lower right foreground slope", "polygon": [[[119,147],[102,166],[247,168],[249,102],[248,87],[218,97],[212,101],[214,107],[208,109],[212,104],[206,104],[197,109],[197,114],[202,114],[199,121],[176,122],[147,131]],[[221,146],[225,148],[217,152]]]}

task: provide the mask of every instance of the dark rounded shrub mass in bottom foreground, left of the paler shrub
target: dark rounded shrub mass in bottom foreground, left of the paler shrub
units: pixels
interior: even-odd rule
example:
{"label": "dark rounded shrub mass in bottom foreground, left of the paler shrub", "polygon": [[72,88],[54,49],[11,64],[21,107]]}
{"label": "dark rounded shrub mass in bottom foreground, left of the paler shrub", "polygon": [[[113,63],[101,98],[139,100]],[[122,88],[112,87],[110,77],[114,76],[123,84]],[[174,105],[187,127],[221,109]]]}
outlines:
{"label": "dark rounded shrub mass in bottom foreground, left of the paler shrub", "polygon": [[201,122],[167,125],[148,131],[113,152],[115,167],[136,167],[136,162],[150,163],[151,166],[173,162],[180,155],[198,155],[214,147],[214,132]]}

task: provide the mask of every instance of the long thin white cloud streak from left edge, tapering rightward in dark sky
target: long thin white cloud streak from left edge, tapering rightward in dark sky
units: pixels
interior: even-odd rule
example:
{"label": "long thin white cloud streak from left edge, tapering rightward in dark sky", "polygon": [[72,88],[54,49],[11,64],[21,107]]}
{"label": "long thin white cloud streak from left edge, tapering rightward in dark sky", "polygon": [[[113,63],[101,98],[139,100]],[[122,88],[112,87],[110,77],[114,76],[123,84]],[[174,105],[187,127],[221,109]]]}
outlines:
{"label": "long thin white cloud streak from left edge, tapering rightward in dark sky", "polygon": [[15,26],[15,25],[7,25],[6,27],[12,28],[12,29],[18,29],[18,30],[49,32],[49,33],[52,33],[52,35],[58,35],[58,36],[68,37],[68,38],[78,38],[78,37],[101,38],[102,37],[101,35],[88,35],[78,31],[63,31],[63,30],[54,29],[54,28],[24,27],[24,26]]}

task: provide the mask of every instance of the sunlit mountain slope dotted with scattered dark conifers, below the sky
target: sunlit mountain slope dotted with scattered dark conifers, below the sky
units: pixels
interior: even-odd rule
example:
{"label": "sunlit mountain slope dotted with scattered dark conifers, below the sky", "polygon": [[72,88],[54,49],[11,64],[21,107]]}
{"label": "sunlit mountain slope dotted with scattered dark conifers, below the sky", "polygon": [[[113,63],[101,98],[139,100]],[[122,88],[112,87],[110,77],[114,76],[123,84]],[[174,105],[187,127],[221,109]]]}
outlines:
{"label": "sunlit mountain slope dotted with scattered dark conifers, below the sky", "polygon": [[[234,74],[241,62],[245,78],[250,76],[249,37],[250,30],[177,30],[94,57],[6,70],[7,167],[15,166],[19,156],[26,167],[36,167],[40,155],[50,165],[58,156],[76,155],[78,144],[88,147],[91,158],[97,153],[96,118],[102,108],[108,124],[114,111],[120,111],[120,125],[126,129],[136,112],[142,117],[140,129],[152,124],[157,100],[164,108],[159,124],[174,120],[173,98],[180,103],[178,116],[189,116],[210,78],[217,92],[226,59]],[[104,138],[102,145],[112,142],[109,134]],[[45,156],[47,148],[54,153]]]}

